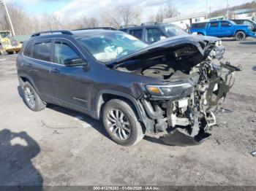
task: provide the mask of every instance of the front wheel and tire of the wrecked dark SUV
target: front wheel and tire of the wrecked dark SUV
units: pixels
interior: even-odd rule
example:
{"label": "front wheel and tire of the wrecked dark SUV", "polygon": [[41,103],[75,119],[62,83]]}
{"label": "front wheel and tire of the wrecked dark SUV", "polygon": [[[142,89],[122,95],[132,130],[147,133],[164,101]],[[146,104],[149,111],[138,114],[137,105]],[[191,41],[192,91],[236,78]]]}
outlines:
{"label": "front wheel and tire of the wrecked dark SUV", "polygon": [[117,144],[132,146],[144,137],[135,110],[126,101],[112,99],[105,104],[102,120],[108,135]]}

